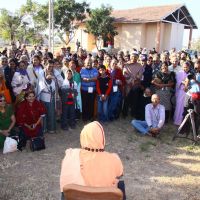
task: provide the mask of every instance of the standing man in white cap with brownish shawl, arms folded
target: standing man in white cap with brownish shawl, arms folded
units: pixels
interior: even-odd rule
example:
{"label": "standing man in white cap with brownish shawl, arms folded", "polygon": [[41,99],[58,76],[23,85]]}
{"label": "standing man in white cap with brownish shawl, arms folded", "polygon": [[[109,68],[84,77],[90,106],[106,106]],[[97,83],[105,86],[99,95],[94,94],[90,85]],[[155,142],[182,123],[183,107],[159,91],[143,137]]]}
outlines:
{"label": "standing man in white cap with brownish shawl, arms folded", "polygon": [[123,69],[123,75],[126,80],[125,85],[125,99],[123,106],[123,116],[128,115],[129,107],[131,107],[131,113],[134,115],[137,109],[137,103],[135,100],[140,92],[141,79],[143,74],[143,67],[138,63],[138,52],[133,51],[131,54],[130,63],[125,64]]}

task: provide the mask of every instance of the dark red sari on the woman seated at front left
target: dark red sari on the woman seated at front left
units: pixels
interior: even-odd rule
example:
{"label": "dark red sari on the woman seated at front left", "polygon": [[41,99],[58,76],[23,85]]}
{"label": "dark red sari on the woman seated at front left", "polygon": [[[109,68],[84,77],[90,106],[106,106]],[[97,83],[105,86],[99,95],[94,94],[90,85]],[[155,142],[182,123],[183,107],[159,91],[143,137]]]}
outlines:
{"label": "dark red sari on the woman seated at front left", "polygon": [[35,129],[30,130],[27,127],[24,126],[24,124],[32,125],[35,124],[41,115],[44,115],[46,113],[46,109],[44,105],[39,102],[38,100],[35,100],[32,105],[28,103],[28,101],[24,100],[22,101],[18,108],[16,113],[16,119],[17,124],[22,127],[25,135],[28,137],[37,137],[42,125],[41,123],[36,126]]}

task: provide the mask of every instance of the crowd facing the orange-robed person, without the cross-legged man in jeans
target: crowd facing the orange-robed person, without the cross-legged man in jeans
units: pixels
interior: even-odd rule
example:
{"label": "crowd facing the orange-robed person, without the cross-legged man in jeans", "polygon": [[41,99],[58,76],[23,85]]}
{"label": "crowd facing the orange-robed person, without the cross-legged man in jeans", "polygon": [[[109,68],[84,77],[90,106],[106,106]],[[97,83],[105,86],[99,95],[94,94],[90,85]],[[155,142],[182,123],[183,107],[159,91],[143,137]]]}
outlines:
{"label": "crowd facing the orange-robed person, without the cross-legged man in jeans", "polygon": [[9,113],[12,118],[8,127],[0,124],[1,141],[14,121],[26,139],[55,133],[57,122],[65,131],[74,129],[80,118],[104,123],[131,115],[145,121],[152,94],[164,106],[165,123],[180,125],[199,83],[200,59],[185,51],[159,54],[141,48],[92,55],[81,47],[75,53],[63,47],[53,55],[48,48],[35,45],[29,52],[26,45],[12,43],[0,57],[0,117]]}

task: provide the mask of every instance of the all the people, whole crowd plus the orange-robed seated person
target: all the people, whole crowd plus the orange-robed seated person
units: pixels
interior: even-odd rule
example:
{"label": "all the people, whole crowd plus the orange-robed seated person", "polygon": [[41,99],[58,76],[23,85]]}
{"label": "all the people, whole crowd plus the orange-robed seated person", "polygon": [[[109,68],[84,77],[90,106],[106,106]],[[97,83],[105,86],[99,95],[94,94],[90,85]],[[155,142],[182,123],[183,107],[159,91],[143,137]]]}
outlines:
{"label": "all the people, whole crowd plus the orange-robed seated person", "polygon": [[[131,115],[133,127],[156,137],[165,123],[181,124],[190,102],[200,107],[199,94],[200,58],[192,60],[185,51],[141,48],[93,55],[63,47],[53,55],[48,48],[35,45],[29,52],[12,43],[0,57],[0,147],[15,134],[15,125],[24,147],[33,137],[56,133],[58,123],[67,131],[78,120],[91,122],[81,132],[81,149],[66,151],[61,192],[72,182],[117,186],[123,166],[118,156],[104,152],[100,123]],[[198,116],[195,120],[199,124]]]}

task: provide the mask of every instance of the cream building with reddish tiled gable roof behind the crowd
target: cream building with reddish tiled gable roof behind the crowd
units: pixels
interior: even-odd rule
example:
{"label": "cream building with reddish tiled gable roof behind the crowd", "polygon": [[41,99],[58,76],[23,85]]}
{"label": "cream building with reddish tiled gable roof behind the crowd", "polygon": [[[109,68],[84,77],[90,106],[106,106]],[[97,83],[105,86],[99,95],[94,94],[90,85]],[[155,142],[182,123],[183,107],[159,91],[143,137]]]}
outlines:
{"label": "cream building with reddish tiled gable roof behind the crowd", "polygon": [[[185,5],[166,5],[141,7],[128,10],[114,10],[115,36],[114,48],[131,50],[132,48],[156,48],[157,51],[182,48],[184,29],[190,29],[188,46],[192,30],[197,29],[191,14]],[[84,24],[77,31],[75,40],[89,51],[95,48],[92,35],[84,32]],[[102,42],[102,45],[106,44]]]}

